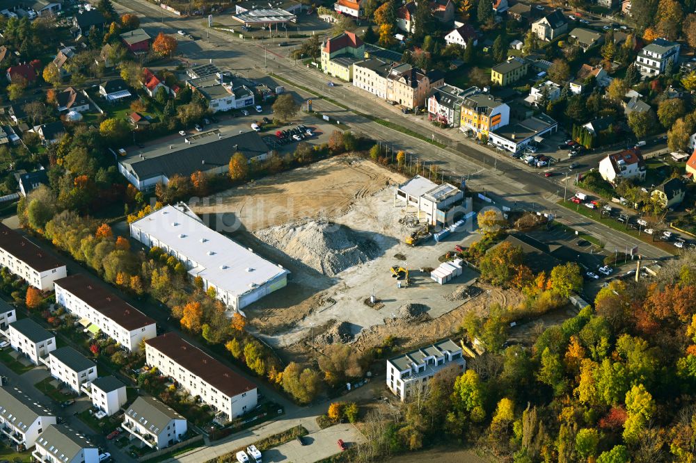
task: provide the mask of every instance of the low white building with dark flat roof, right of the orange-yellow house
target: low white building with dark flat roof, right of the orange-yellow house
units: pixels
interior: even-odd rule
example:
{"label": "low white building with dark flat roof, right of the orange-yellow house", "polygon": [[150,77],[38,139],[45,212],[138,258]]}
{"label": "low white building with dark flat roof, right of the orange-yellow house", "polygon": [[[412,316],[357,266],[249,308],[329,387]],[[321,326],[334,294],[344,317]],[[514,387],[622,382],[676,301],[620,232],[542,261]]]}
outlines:
{"label": "low white building with dark flat roof, right of the orange-yellow house", "polygon": [[494,147],[507,149],[512,153],[523,151],[532,143],[543,143],[544,136],[553,135],[558,131],[558,122],[548,115],[541,113],[532,115],[525,120],[496,129],[488,133],[489,142]]}

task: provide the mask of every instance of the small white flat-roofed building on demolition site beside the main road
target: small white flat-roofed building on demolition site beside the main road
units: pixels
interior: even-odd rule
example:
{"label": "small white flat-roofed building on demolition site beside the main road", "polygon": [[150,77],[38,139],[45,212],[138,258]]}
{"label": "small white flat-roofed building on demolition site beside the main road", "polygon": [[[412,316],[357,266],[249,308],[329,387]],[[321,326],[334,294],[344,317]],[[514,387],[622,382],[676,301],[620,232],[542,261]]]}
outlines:
{"label": "small white flat-roofed building on demolition site beside the main road", "polygon": [[[403,202],[406,205],[406,213],[409,206],[416,206],[416,213],[425,213],[427,222],[431,225],[447,223],[452,220],[455,212],[467,212],[469,204],[464,204],[464,209],[458,210],[454,206],[464,199],[464,192],[451,184],[438,185],[425,177],[416,175],[406,183],[395,188],[394,204]],[[467,202],[468,203],[468,202]]]}

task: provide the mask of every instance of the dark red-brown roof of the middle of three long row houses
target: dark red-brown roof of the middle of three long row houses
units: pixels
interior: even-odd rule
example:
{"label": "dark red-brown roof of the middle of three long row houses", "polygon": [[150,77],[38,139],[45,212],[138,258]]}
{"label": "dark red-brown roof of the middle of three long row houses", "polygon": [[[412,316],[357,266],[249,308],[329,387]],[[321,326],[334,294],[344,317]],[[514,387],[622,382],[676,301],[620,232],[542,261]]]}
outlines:
{"label": "dark red-brown roof of the middle of three long row houses", "polygon": [[[77,296],[88,306],[125,330],[138,330],[155,324],[155,320],[119,298],[109,289],[106,289],[103,284],[95,282],[82,273],[56,279],[54,284]],[[95,323],[95,320],[90,321]]]}

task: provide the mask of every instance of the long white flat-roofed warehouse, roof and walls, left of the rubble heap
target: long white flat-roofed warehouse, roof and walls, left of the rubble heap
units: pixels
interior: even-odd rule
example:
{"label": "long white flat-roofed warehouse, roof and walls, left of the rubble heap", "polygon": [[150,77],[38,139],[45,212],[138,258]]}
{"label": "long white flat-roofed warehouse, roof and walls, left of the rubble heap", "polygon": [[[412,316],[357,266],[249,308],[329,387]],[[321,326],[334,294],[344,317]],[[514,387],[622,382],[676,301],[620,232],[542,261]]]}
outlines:
{"label": "long white flat-roofed warehouse, roof and walls, left of the rubble heap", "polygon": [[207,227],[185,204],[164,206],[130,225],[133,238],[160,247],[186,266],[191,277],[213,287],[217,298],[239,310],[287,284],[285,268]]}

